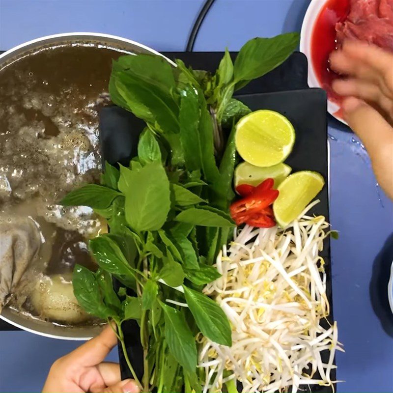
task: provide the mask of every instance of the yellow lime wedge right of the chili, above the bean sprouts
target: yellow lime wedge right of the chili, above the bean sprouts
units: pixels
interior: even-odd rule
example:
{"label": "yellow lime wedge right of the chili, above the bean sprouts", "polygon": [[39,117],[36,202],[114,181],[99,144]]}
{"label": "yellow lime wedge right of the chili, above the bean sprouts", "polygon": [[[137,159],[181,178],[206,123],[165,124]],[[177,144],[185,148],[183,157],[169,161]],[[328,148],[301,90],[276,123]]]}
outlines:
{"label": "yellow lime wedge right of the chili, above the bean sprouts", "polygon": [[297,219],[325,184],[318,172],[303,170],[288,176],[278,187],[279,197],[273,203],[274,216],[281,227]]}

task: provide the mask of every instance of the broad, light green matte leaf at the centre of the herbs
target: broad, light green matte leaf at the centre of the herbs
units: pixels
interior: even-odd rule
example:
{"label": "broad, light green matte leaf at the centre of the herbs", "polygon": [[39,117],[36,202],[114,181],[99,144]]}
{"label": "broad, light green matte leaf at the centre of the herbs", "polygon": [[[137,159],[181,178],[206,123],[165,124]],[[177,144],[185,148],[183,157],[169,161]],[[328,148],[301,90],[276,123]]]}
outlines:
{"label": "broad, light green matte leaf at the centre of the herbs", "polygon": [[135,231],[160,229],[170,209],[169,181],[159,162],[139,171],[120,167],[119,190],[125,196],[125,219]]}

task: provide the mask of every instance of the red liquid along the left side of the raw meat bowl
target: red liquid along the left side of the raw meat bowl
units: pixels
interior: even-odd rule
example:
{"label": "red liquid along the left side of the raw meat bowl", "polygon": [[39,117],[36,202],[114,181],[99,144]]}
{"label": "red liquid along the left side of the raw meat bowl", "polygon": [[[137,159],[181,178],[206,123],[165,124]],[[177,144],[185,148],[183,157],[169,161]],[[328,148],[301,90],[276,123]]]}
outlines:
{"label": "red liquid along the left side of the raw meat bowl", "polygon": [[[315,1],[315,0],[314,0]],[[332,90],[332,81],[338,75],[330,69],[329,55],[337,47],[336,23],[346,19],[350,11],[349,0],[329,0],[320,11],[312,31],[311,61],[321,87],[331,101],[340,103],[340,97]]]}

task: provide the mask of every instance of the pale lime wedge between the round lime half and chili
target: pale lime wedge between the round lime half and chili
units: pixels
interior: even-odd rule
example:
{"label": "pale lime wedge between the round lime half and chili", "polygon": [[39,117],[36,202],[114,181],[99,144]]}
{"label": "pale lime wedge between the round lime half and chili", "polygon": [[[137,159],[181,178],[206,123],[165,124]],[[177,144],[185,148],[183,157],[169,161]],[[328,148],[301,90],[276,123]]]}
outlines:
{"label": "pale lime wedge between the round lime half and chili", "polygon": [[249,163],[241,163],[235,169],[235,188],[239,184],[257,186],[268,177],[274,179],[274,188],[277,188],[282,180],[291,173],[292,168],[286,164],[277,164],[273,167],[261,168]]}

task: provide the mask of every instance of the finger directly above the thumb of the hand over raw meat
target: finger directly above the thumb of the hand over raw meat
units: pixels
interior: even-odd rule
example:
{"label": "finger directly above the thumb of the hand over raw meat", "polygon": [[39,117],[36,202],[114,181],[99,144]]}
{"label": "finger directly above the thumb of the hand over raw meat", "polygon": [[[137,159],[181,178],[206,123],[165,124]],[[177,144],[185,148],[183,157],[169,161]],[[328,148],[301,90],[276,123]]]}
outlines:
{"label": "finger directly above the thumb of the hand over raw meat", "polygon": [[368,103],[377,104],[383,114],[393,120],[393,100],[386,97],[376,84],[354,78],[337,79],[333,82],[332,87],[341,96],[354,96]]}

